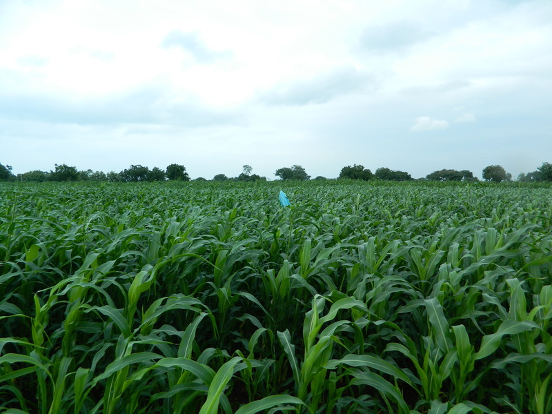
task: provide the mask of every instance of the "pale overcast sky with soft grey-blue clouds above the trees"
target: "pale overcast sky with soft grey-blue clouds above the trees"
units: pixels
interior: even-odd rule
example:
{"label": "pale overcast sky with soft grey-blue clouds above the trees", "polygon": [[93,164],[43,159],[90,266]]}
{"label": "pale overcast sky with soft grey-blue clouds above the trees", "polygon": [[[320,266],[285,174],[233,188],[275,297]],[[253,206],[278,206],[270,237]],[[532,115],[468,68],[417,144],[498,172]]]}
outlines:
{"label": "pale overcast sky with soft grey-blue clouds above the trees", "polygon": [[552,162],[550,0],[0,0],[15,173]]}

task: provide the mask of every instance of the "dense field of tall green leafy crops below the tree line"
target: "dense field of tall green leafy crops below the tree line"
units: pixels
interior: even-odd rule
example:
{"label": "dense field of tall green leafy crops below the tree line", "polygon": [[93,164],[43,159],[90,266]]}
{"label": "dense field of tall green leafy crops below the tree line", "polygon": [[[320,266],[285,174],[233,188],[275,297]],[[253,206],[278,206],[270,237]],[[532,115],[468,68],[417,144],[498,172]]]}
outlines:
{"label": "dense field of tall green leafy crops below the tree line", "polygon": [[551,201],[1,184],[0,412],[552,413]]}

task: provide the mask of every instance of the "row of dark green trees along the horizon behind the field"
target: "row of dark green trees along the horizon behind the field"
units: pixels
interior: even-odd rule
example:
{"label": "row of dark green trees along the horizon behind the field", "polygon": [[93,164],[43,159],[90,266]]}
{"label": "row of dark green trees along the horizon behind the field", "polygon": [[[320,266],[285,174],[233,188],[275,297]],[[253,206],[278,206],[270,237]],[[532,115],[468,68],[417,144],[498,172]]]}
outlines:
{"label": "row of dark green trees along the horizon behind the field", "polygon": [[[243,171],[237,177],[227,177],[224,174],[217,174],[212,181],[266,181],[266,177],[260,177],[253,174],[253,168],[249,165],[243,166]],[[278,168],[274,174],[279,179],[284,181],[307,181],[311,176],[306,170],[299,165],[290,167]],[[359,179],[368,181],[371,179],[386,180],[386,181],[411,181],[408,172],[400,170],[391,170],[390,168],[377,168],[374,173],[362,165],[353,164],[353,166],[345,166],[339,172],[339,178],[342,179]],[[512,175],[506,172],[502,166],[493,165],[486,166],[482,170],[482,178],[484,181],[502,182],[512,181]],[[315,179],[326,179],[318,176]],[[170,164],[165,169],[153,167],[151,170],[146,166],[131,165],[120,172],[110,171],[92,171],[92,170],[77,170],[75,166],[67,164],[55,164],[55,170],[41,171],[32,170],[23,172],[23,174],[14,175],[11,166],[0,164],[0,181],[111,181],[111,182],[138,182],[138,181],[190,181],[190,176],[186,172],[186,167],[180,164]],[[474,177],[473,172],[469,170],[451,170],[443,169],[431,172],[424,178],[418,180],[424,181],[463,181],[476,182],[479,181]],[[195,181],[207,181],[204,177],[198,177]],[[522,172],[517,176],[516,181],[533,182],[533,181],[552,181],[552,164],[548,162],[542,163],[542,166],[533,172]]]}

